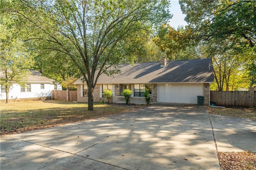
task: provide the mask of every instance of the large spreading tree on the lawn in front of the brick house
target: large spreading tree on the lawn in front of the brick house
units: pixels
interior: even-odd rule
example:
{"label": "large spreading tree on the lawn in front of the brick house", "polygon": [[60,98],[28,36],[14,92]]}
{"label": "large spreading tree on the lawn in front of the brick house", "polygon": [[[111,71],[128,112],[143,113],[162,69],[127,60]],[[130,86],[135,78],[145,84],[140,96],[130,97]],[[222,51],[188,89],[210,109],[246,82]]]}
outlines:
{"label": "large spreading tree on the lawn in front of the brick house", "polygon": [[114,74],[112,64],[133,57],[133,37],[166,22],[168,6],[167,0],[18,0],[11,10],[29,21],[31,31],[44,33],[33,39],[47,41],[48,49],[74,62],[88,85],[88,110],[93,110],[100,74]]}

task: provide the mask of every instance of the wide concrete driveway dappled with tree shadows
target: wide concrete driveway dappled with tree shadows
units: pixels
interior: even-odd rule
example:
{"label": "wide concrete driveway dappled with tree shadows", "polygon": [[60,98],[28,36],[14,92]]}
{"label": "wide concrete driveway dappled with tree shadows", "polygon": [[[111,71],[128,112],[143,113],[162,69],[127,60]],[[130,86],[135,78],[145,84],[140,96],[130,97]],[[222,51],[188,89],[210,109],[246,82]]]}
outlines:
{"label": "wide concrete driveway dappled with tree shadows", "polygon": [[[152,105],[8,135],[0,138],[0,166],[1,170],[220,169],[216,149],[256,151],[256,121],[226,118],[209,117],[204,106]],[[248,145],[236,140],[245,137]]]}

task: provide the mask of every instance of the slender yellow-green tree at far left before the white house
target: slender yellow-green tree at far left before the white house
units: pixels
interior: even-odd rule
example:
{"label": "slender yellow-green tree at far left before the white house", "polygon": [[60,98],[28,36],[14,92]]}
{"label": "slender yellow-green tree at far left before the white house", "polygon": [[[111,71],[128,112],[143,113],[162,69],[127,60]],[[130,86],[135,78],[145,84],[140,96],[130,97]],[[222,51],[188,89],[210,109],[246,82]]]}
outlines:
{"label": "slender yellow-green tree at far left before the white house", "polygon": [[[0,2],[2,7],[4,2]],[[12,15],[0,12],[0,84],[6,90],[6,103],[9,102],[9,91],[12,83],[26,86],[26,79],[30,75],[33,64],[33,53],[22,41],[22,20]]]}

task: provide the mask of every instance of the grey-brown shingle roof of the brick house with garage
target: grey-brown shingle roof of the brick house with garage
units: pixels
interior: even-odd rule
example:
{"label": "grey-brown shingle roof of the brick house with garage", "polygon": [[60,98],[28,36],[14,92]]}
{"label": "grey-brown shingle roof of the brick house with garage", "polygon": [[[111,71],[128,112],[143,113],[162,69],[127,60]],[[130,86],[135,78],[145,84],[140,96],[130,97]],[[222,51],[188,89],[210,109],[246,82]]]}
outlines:
{"label": "grey-brown shingle roof of the brick house with garage", "polygon": [[[210,70],[209,70],[210,62]],[[214,82],[212,59],[120,64],[121,73],[102,74],[97,84]],[[74,84],[83,84],[79,79]]]}

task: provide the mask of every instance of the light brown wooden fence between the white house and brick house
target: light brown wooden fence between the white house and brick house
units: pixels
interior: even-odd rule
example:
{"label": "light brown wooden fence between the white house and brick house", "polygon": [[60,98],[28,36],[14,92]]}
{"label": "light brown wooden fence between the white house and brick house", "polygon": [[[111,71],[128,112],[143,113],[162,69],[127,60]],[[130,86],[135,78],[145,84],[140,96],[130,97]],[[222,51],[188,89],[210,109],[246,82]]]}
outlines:
{"label": "light brown wooden fence between the white house and brick house", "polygon": [[52,90],[52,99],[61,101],[77,101],[77,91]]}

